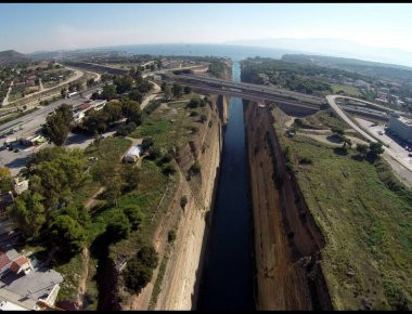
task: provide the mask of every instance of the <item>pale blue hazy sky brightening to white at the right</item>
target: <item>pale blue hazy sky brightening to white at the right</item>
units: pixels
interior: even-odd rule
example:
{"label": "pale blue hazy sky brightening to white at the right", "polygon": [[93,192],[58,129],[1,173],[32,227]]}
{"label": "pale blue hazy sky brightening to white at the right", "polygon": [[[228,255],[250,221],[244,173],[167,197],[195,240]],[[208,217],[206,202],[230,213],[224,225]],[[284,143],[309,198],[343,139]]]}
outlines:
{"label": "pale blue hazy sky brightening to white at the right", "polygon": [[0,4],[0,50],[339,38],[412,52],[412,4]]}

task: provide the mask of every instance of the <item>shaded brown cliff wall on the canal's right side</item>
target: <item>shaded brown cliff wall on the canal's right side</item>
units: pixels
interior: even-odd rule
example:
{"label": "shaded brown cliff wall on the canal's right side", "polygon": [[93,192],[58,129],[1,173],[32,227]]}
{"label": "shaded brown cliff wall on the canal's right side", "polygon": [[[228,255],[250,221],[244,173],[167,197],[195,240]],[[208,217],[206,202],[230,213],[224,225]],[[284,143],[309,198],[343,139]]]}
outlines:
{"label": "shaded brown cliff wall on the canal's right side", "polygon": [[332,309],[319,260],[324,239],[293,173],[286,170],[273,117],[244,105],[254,210],[258,310]]}

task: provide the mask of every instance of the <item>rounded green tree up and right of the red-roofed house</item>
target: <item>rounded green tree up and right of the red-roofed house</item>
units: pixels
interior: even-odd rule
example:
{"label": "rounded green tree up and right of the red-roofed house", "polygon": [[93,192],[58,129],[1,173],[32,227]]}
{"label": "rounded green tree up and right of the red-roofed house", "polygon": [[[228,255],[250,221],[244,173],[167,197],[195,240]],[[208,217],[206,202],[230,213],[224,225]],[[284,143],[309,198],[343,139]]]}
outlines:
{"label": "rounded green tree up and right of the red-roofed house", "polygon": [[78,252],[86,244],[85,228],[67,214],[60,214],[50,226],[50,237],[62,251]]}

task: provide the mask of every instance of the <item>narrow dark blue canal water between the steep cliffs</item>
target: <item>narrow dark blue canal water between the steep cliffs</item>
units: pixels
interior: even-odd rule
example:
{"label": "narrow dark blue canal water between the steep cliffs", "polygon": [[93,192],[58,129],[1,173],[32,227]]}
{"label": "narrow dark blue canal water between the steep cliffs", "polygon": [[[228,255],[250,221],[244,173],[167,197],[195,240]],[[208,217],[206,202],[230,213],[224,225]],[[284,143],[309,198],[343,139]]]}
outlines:
{"label": "narrow dark blue canal water between the steep cliffs", "polygon": [[[233,61],[232,79],[241,67]],[[255,310],[252,209],[242,100],[229,103],[223,156],[197,310]]]}

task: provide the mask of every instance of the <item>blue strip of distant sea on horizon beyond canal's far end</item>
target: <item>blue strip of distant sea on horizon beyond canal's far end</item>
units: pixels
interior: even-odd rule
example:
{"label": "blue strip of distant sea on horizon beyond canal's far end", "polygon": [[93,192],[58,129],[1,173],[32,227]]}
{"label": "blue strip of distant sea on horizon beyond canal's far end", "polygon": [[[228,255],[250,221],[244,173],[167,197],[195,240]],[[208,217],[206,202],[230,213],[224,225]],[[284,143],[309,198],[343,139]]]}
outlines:
{"label": "blue strip of distant sea on horizon beyond canal's far end", "polygon": [[261,56],[281,58],[283,54],[301,53],[295,50],[282,50],[261,47],[235,45],[235,44],[133,44],[116,45],[110,49],[123,51],[128,54],[152,54],[152,55],[188,55],[188,56],[221,56],[232,60],[243,60],[246,57]]}

